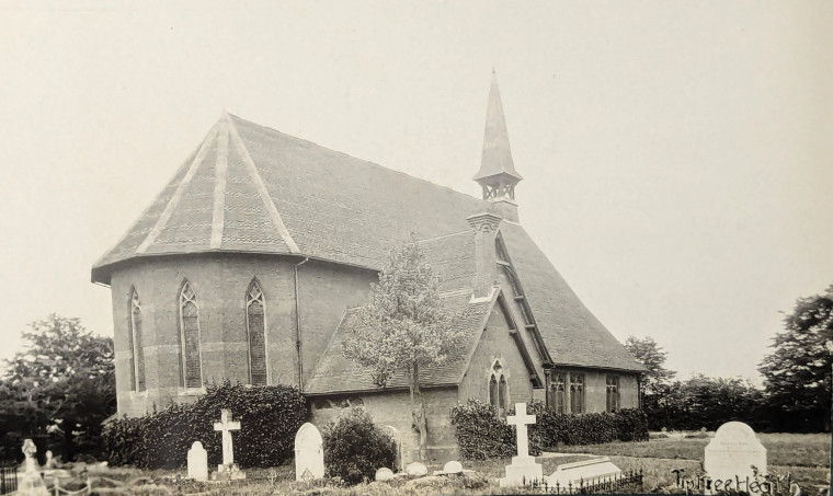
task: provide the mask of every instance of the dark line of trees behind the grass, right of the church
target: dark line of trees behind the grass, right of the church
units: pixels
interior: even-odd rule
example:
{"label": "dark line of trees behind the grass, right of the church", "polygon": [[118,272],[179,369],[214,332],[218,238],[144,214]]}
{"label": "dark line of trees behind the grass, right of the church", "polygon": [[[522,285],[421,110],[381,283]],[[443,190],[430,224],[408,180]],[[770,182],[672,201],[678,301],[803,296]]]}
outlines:
{"label": "dark line of trees behind the grass, right of the church", "polygon": [[758,368],[764,388],[741,379],[695,374],[680,381],[664,367],[666,353],[651,337],[629,337],[628,350],[648,369],[642,407],[649,428],[715,429],[741,420],[756,430],[830,431],[833,370],[833,286],[799,298],[785,315],[785,331]]}

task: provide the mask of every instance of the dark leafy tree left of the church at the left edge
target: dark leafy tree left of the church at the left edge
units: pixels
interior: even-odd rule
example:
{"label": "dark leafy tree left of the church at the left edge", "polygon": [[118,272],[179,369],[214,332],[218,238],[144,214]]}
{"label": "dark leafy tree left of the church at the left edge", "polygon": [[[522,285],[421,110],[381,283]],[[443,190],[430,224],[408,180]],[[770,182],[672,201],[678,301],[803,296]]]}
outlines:
{"label": "dark leafy tree left of the church at the left edge", "polygon": [[47,434],[62,435],[68,458],[98,453],[101,423],[115,412],[113,341],[56,314],[31,324],[23,339],[0,382],[0,454],[15,458],[22,438]]}

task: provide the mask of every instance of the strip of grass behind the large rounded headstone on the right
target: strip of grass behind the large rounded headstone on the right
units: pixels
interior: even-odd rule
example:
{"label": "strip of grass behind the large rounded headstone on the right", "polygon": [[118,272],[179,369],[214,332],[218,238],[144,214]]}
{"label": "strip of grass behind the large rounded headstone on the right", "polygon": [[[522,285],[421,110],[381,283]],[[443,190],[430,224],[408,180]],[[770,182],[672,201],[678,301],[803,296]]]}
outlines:
{"label": "strip of grass behind the large rounded headstone on the right", "polygon": [[[830,466],[830,435],[758,434],[766,448],[769,465]],[[605,445],[563,446],[564,453],[593,453],[651,459],[703,460],[709,439],[651,439],[648,442],[608,442]]]}

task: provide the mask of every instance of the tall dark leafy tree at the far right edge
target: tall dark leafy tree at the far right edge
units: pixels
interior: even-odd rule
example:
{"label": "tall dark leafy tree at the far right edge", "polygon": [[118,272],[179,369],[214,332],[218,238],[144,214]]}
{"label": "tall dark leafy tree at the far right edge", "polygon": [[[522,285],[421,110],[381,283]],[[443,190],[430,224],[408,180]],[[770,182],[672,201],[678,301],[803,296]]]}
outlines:
{"label": "tall dark leafy tree at the far right edge", "polygon": [[791,429],[830,430],[833,365],[833,286],[823,295],[799,298],[784,319],[785,332],[761,362],[769,403]]}

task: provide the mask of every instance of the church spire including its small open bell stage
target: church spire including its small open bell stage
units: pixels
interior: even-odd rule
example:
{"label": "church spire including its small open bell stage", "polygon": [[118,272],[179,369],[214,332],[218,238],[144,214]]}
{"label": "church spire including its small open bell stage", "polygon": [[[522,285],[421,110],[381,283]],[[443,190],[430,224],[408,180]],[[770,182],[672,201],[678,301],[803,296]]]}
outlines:
{"label": "church spire including its small open bell stage", "polygon": [[498,74],[492,69],[492,85],[486,109],[486,132],[480,170],[473,177],[483,187],[483,198],[509,197],[514,199],[514,187],[523,180],[512,162],[506,119],[498,89]]}

